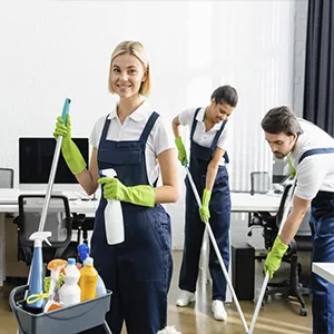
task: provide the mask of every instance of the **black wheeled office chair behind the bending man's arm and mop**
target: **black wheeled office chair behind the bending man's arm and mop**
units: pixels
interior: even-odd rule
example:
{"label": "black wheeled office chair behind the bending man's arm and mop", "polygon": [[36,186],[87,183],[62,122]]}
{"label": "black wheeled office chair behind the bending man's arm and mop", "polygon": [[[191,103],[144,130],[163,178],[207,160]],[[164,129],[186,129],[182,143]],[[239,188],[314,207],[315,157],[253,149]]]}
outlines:
{"label": "black wheeled office chair behind the bending man's arm and mop", "polygon": [[[263,227],[263,237],[265,243],[265,248],[271,250],[272,246],[277,236],[279,224],[283,218],[284,209],[286,206],[286,199],[288,197],[288,193],[291,190],[292,185],[286,185],[284,188],[284,193],[279,203],[278,212],[276,216],[272,215],[262,215],[252,220],[252,225],[258,225]],[[289,244],[288,250],[283,257],[283,262],[289,263],[289,279],[283,281],[279,283],[269,282],[267,285],[267,291],[265,292],[264,299],[267,301],[269,295],[282,294],[285,298],[289,296],[296,297],[301,304],[299,314],[303,316],[307,315],[307,308],[303,298],[303,295],[310,295],[311,288],[302,286],[299,283],[299,274],[302,272],[302,265],[298,263],[297,250],[302,252],[312,252],[312,235],[311,228],[308,225],[311,217],[311,210],[306,213],[303,223]]]}

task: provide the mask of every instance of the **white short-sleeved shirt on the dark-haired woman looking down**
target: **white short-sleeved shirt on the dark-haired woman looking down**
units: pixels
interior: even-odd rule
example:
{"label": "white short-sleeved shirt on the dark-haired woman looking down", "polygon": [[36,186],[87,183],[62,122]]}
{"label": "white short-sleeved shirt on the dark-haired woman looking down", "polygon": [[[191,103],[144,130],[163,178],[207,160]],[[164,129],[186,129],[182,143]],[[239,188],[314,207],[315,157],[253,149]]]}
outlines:
{"label": "white short-sleeved shirt on the dark-haired woman looking down", "polygon": [[[194,120],[194,115],[195,115],[196,109],[197,108],[186,109],[179,115],[179,122],[183,126],[189,126],[190,131],[191,131],[193,120]],[[217,131],[219,131],[219,129],[220,129],[222,121],[218,124],[215,124],[212,129],[206,131],[205,124],[204,124],[204,114],[205,114],[205,108],[200,108],[200,110],[198,111],[198,114],[196,116],[197,126],[196,126],[193,139],[196,144],[198,144],[203,147],[210,147]],[[224,149],[225,151],[228,151],[228,149],[230,147],[230,135],[228,131],[228,122],[225,125],[225,128],[218,138],[217,147]],[[225,165],[224,157],[222,157],[219,165],[222,165],[222,166]]]}

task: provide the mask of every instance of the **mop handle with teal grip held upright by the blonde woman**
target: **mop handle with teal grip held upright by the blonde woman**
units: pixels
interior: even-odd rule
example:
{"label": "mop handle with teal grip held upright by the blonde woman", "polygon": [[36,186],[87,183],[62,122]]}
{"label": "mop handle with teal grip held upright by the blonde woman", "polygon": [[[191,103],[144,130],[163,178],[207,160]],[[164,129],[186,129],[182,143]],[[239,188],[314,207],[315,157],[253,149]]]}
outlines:
{"label": "mop handle with teal grip held upright by the blonde woman", "polygon": [[[70,102],[71,102],[70,99],[68,99],[68,98],[65,99],[63,107],[62,107],[62,114],[61,114],[61,118],[62,118],[62,121],[65,125],[66,125],[66,120],[67,120],[67,115],[69,112],[69,104]],[[51,171],[50,171],[47,193],[46,193],[46,200],[43,203],[43,208],[42,208],[42,213],[41,213],[41,217],[40,217],[40,222],[39,222],[38,232],[42,232],[45,229],[47,213],[48,213],[48,208],[49,208],[50,197],[51,197],[51,193],[52,193],[53,181],[55,181],[55,177],[56,177],[56,171],[57,171],[57,166],[58,166],[58,160],[59,160],[59,155],[60,155],[60,149],[61,149],[61,143],[62,143],[62,136],[59,136],[57,139],[56,149],[55,149],[55,154],[53,154]]]}

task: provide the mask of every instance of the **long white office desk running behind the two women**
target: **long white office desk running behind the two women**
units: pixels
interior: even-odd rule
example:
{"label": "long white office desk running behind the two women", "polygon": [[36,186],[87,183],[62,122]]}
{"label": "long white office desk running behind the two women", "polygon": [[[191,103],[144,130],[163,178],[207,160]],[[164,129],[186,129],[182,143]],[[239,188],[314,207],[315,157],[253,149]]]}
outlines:
{"label": "long white office desk running behind the two women", "polygon": [[[19,189],[0,189],[0,287],[6,278],[6,226],[4,215],[17,214],[19,212],[19,195],[38,195],[42,191],[21,191]],[[63,195],[68,195],[65,191]],[[69,196],[71,198],[72,196]],[[281,196],[278,195],[259,195],[250,196],[248,193],[232,193],[232,212],[233,213],[252,213],[252,212],[269,212],[278,210]],[[70,210],[72,213],[94,215],[97,209],[98,200],[69,200]]]}

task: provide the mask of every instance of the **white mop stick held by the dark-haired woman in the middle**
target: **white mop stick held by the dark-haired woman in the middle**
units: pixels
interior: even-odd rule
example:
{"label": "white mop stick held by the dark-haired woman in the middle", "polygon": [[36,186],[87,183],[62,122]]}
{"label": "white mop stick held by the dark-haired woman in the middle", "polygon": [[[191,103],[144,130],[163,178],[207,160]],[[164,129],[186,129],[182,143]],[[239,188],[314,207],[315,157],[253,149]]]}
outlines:
{"label": "white mop stick held by the dark-haired woman in the middle", "polygon": [[[195,186],[195,184],[194,184],[191,174],[190,174],[189,168],[188,168],[187,166],[185,166],[185,168],[186,168],[187,176],[188,176],[189,183],[190,183],[190,185],[191,185],[193,193],[194,193],[194,195],[195,195],[197,205],[198,205],[198,207],[200,207],[200,206],[202,206],[202,202],[200,202],[198,191],[197,191],[197,189],[196,189],[196,186]],[[205,225],[206,225],[206,229],[207,229],[207,232],[208,232],[210,242],[212,242],[212,244],[213,244],[213,246],[214,246],[214,248],[215,248],[215,252],[216,252],[217,258],[218,258],[218,261],[219,261],[219,264],[220,264],[223,274],[224,274],[224,276],[225,276],[226,283],[227,283],[228,287],[229,287],[230,294],[232,294],[232,296],[233,296],[233,299],[234,299],[234,302],[235,302],[235,304],[236,304],[236,307],[237,307],[237,310],[238,310],[238,313],[239,313],[239,315],[240,315],[240,318],[242,318],[244,328],[245,328],[245,331],[246,331],[246,333],[247,333],[247,332],[248,332],[248,326],[247,326],[246,320],[245,320],[245,317],[244,317],[244,313],[243,313],[243,311],[242,311],[242,307],[240,307],[240,305],[239,305],[239,302],[238,302],[238,299],[237,299],[237,296],[236,296],[236,294],[235,294],[235,292],[234,292],[234,288],[233,288],[232,282],[230,282],[230,279],[229,279],[228,273],[227,273],[227,271],[226,271],[226,268],[225,268],[225,265],[224,265],[224,263],[223,263],[223,258],[222,258],[219,248],[218,248],[218,246],[217,246],[215,236],[214,236],[214,234],[213,234],[213,230],[212,230],[212,228],[210,228],[209,223],[208,223],[208,222],[205,222]]]}

